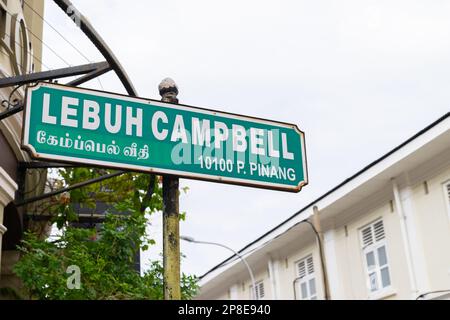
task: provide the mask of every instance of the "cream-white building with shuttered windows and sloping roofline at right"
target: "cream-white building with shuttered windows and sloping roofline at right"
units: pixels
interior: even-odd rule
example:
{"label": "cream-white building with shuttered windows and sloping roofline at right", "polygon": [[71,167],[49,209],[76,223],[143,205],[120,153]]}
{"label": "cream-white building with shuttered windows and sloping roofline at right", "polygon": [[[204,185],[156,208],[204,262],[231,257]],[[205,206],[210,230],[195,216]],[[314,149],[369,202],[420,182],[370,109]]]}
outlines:
{"label": "cream-white building with shuttered windows and sloping roofline at right", "polygon": [[[325,268],[311,225],[302,223],[314,217]],[[450,290],[450,113],[240,253],[260,299],[324,299],[324,269],[331,299],[416,299]],[[200,285],[197,299],[252,298],[249,273],[236,258]]]}

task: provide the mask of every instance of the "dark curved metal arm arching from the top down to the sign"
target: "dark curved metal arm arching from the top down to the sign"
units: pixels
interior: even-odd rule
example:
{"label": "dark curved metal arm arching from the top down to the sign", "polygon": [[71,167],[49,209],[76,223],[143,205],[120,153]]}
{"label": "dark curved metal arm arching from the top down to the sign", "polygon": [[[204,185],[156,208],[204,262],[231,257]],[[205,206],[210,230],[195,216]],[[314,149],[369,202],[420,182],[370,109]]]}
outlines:
{"label": "dark curved metal arm arching from the top down to the sign", "polygon": [[[90,24],[90,22],[86,19],[84,15],[82,15],[75,6],[69,0],[54,0],[54,2],[69,16],[69,18],[73,18],[72,14],[76,14],[76,22],[79,22],[79,27],[81,31],[91,40],[94,46],[100,51],[100,53],[105,57],[106,61],[108,61],[111,68],[117,74],[123,86],[127,90],[130,96],[137,96],[137,91],[131,83],[130,78],[128,77],[125,69],[120,64],[117,57],[114,55],[112,50],[108,47],[103,38],[95,31],[94,27]],[[70,9],[70,10],[68,10]]]}

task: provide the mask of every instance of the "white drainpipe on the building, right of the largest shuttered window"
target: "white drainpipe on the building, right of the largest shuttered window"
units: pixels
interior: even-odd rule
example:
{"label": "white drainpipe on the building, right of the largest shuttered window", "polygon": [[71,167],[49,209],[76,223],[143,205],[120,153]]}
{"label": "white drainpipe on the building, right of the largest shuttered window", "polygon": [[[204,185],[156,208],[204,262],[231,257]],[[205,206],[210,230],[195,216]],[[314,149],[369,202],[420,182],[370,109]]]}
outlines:
{"label": "white drainpipe on the building, right of the largest shuttered window", "polygon": [[397,209],[397,213],[400,218],[400,229],[402,232],[403,245],[405,247],[406,264],[408,265],[408,275],[409,275],[409,280],[411,282],[411,290],[414,293],[417,293],[417,279],[416,279],[416,275],[414,272],[414,263],[412,261],[412,251],[411,251],[411,244],[409,243],[409,234],[408,234],[408,227],[406,224],[406,215],[405,215],[405,211],[403,209],[402,199],[400,197],[400,192],[398,189],[397,181],[395,180],[395,178],[392,178],[391,182],[392,182],[392,190],[394,192],[395,207]]}

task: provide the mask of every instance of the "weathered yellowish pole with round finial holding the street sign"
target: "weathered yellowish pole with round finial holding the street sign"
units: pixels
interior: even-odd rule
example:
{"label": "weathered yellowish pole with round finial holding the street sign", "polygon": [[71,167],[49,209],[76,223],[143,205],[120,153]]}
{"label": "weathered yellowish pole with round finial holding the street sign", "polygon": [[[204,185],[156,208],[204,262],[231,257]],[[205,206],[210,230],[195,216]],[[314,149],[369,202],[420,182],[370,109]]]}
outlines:
{"label": "weathered yellowish pole with round finial holding the street sign", "polygon": [[[178,88],[175,82],[164,79],[159,85],[162,101],[178,103]],[[180,300],[180,209],[179,179],[163,176],[163,282],[164,299]]]}

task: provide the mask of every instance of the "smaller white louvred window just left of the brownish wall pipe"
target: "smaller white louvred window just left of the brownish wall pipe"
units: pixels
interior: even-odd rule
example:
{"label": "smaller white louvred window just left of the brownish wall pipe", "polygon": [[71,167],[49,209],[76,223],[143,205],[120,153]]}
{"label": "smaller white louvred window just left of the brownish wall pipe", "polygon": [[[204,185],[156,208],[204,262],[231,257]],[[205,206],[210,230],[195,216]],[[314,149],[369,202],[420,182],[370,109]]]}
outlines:
{"label": "smaller white louvred window just left of the brownish wall pipe", "polygon": [[296,296],[302,300],[316,300],[316,276],[312,255],[297,262],[297,277]]}

